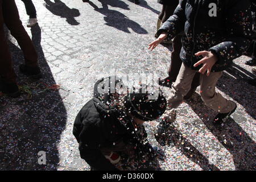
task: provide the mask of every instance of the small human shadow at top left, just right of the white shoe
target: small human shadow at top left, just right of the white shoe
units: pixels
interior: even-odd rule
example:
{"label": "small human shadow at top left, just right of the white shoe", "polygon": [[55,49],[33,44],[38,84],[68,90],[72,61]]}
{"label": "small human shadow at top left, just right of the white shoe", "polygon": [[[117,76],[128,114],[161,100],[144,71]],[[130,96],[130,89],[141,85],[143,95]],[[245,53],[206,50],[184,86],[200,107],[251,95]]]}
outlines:
{"label": "small human shadow at top left, just right of the white shoe", "polygon": [[46,2],[44,3],[44,6],[47,10],[51,11],[52,14],[60,16],[61,18],[66,18],[66,21],[71,25],[80,24],[75,19],[75,17],[80,16],[79,10],[75,8],[69,8],[67,5],[65,5],[64,2],[61,2],[60,0],[54,0],[54,2],[51,0],[44,1]]}

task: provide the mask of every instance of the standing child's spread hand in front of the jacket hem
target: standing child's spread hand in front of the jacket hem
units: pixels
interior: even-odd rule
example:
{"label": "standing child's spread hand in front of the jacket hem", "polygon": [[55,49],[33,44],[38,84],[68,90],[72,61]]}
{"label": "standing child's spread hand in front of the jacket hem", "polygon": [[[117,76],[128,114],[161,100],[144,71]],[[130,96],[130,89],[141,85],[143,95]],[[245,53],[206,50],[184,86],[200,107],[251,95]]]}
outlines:
{"label": "standing child's spread hand in front of the jacket hem", "polygon": [[209,76],[213,65],[218,61],[218,57],[209,51],[197,52],[195,55],[204,56],[204,58],[194,64],[194,67],[198,67],[200,64],[203,64],[203,67],[199,69],[199,73],[204,75],[207,71],[207,76]]}

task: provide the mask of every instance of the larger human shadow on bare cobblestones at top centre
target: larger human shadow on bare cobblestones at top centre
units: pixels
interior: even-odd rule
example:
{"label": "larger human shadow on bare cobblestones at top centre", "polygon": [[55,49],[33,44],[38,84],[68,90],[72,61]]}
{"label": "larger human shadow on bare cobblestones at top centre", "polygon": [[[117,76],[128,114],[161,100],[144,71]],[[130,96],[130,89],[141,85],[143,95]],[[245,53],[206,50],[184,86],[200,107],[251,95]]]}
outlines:
{"label": "larger human shadow on bare cobblestones at top centre", "polygon": [[[142,28],[138,23],[130,20],[124,14],[116,10],[108,9],[108,2],[101,1],[102,8],[98,8],[93,2],[89,1],[89,5],[94,8],[95,11],[104,15],[105,24],[117,28],[126,33],[131,33],[128,28],[131,28],[137,34],[147,34],[147,31]],[[117,2],[118,3],[118,2]]]}

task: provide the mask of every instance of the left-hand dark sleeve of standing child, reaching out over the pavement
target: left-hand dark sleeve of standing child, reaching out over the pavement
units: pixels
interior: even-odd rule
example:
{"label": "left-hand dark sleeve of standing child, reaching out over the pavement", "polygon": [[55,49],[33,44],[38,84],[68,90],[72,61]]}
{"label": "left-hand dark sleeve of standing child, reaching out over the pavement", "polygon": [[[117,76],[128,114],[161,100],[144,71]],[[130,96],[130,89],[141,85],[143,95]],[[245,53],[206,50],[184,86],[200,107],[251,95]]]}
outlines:
{"label": "left-hand dark sleeve of standing child, reaching out over the pavement", "polygon": [[174,38],[180,32],[184,31],[185,26],[185,2],[186,0],[180,0],[179,5],[174,11],[174,15],[170,16],[166,22],[163,23],[162,27],[156,32],[159,36],[163,32],[168,33],[168,39]]}

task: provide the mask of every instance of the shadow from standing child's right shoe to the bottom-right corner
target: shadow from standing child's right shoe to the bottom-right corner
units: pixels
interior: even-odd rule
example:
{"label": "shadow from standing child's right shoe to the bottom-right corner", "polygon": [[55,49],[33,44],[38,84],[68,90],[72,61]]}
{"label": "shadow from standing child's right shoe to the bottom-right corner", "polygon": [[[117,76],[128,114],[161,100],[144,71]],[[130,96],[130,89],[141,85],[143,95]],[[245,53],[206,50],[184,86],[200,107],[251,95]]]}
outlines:
{"label": "shadow from standing child's right shoe to the bottom-right corner", "polygon": [[[197,102],[193,102],[193,100]],[[201,121],[210,132],[218,139],[218,141],[230,152],[233,157],[233,162],[236,170],[255,170],[255,151],[256,146],[253,139],[237,124],[233,119],[229,119],[223,126],[214,126],[209,115],[202,115],[202,113],[209,113],[210,109],[205,107],[199,94],[193,94],[193,99],[187,101],[191,109],[201,116]]]}

